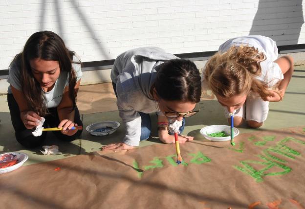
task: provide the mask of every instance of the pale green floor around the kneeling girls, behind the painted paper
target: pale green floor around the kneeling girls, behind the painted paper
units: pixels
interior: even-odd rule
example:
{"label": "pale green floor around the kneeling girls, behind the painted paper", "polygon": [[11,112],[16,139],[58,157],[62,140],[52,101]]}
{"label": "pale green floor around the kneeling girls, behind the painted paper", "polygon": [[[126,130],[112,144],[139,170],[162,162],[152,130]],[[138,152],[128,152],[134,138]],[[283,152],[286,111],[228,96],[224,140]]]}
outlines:
{"label": "pale green floor around the kneeling girls, behind the painted paper", "polygon": [[[241,133],[253,132],[258,130],[275,130],[285,127],[305,125],[305,66],[295,67],[295,72],[285,98],[282,102],[270,103],[269,115],[264,125],[260,129],[249,129],[246,126],[240,127]],[[122,124],[118,116],[115,104],[115,96],[110,83],[81,86],[78,93],[78,107],[83,119],[84,127],[87,125],[105,120],[116,120]],[[187,119],[183,134],[194,136],[195,140],[203,140],[199,130],[206,125],[227,124],[223,115],[223,108],[216,100],[204,99],[199,103],[200,112]],[[156,116],[152,117],[152,137],[157,136]],[[11,124],[9,109],[7,106],[6,95],[0,96],[0,153],[10,151],[22,151],[29,155],[29,160],[24,164],[42,163],[57,159],[62,159],[74,155],[100,150],[105,144],[121,141],[124,136],[124,126],[109,136],[95,137],[83,131],[81,139],[70,143],[61,142],[52,135],[48,134],[45,145],[56,144],[62,155],[43,155],[37,148],[33,150],[24,149],[15,139],[14,130]],[[140,143],[140,146],[147,146],[160,143],[158,139],[148,139]],[[206,140],[206,139],[205,139]]]}

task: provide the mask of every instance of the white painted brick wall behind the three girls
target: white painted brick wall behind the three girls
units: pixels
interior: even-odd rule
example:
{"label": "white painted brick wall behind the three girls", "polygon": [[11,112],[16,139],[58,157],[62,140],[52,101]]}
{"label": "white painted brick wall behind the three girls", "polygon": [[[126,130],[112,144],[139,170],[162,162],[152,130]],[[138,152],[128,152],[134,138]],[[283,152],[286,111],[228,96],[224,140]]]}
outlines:
{"label": "white painted brick wall behind the three girls", "polygon": [[303,7],[302,0],[0,0],[0,70],[40,30],[58,33],[83,62],[139,46],[217,50],[249,34],[304,44]]}

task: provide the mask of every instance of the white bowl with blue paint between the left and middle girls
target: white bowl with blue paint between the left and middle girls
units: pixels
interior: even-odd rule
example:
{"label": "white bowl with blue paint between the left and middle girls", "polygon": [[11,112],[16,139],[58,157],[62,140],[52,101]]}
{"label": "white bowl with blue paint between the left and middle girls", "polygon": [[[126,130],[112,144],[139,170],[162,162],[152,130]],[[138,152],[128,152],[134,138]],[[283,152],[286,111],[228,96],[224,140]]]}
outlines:
{"label": "white bowl with blue paint between the left and middle girls", "polygon": [[93,136],[106,136],[115,132],[119,126],[117,121],[102,121],[88,125],[86,131]]}

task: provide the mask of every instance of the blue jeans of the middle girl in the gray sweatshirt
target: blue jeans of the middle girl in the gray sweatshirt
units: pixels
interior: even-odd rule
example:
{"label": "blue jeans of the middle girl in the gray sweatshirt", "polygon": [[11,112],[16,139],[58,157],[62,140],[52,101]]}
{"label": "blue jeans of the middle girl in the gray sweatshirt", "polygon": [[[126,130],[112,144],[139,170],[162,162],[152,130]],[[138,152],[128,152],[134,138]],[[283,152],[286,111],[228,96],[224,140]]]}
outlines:
{"label": "blue jeans of the middle girl in the gray sweatshirt", "polygon": [[[115,93],[115,96],[117,98],[117,93],[116,93],[116,84],[112,82],[112,87]],[[151,116],[148,113],[142,113],[139,112],[141,116],[141,137],[140,141],[146,140],[150,137],[151,132],[152,132],[152,121],[151,121]],[[185,118],[183,117],[182,125],[179,128],[180,133],[182,133],[185,125]],[[170,133],[170,135],[173,135]]]}

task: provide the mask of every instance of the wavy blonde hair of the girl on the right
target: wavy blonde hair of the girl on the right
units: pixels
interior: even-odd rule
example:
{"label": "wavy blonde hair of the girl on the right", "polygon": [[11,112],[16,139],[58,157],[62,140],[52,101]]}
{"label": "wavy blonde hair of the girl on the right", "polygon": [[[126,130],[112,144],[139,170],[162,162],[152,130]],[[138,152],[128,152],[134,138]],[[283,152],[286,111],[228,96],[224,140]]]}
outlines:
{"label": "wavy blonde hair of the girl on the right", "polygon": [[231,46],[209,59],[204,67],[203,82],[220,97],[254,93],[265,100],[271,95],[267,84],[255,79],[261,74],[260,62],[265,59],[253,46]]}

